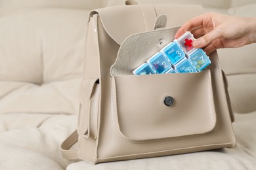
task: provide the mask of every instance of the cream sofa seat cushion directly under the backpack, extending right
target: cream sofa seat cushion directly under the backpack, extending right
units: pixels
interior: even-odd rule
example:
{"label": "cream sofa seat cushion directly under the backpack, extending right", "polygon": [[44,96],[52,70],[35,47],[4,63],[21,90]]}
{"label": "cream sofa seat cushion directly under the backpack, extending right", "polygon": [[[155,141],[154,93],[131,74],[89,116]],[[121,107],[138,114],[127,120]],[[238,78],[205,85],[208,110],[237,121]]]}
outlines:
{"label": "cream sofa seat cushion directly under the backpack, extending right", "polygon": [[79,161],[72,163],[67,169],[256,169],[256,112],[236,114],[236,119],[234,123],[234,131],[238,143],[236,148],[223,148],[159,158],[99,163],[97,165]]}

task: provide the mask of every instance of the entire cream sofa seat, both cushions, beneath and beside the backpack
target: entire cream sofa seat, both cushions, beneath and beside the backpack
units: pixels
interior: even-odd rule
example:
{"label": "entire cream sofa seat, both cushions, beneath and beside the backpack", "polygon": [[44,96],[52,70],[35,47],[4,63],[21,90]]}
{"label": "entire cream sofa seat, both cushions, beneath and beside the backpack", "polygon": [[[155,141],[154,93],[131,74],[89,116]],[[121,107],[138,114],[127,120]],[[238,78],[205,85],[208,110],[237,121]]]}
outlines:
{"label": "entire cream sofa seat, both cushions, beneath and beside the backpack", "polygon": [[98,165],[62,158],[60,143],[76,122],[76,115],[1,114],[0,169],[256,169],[256,112],[236,114],[236,148]]}

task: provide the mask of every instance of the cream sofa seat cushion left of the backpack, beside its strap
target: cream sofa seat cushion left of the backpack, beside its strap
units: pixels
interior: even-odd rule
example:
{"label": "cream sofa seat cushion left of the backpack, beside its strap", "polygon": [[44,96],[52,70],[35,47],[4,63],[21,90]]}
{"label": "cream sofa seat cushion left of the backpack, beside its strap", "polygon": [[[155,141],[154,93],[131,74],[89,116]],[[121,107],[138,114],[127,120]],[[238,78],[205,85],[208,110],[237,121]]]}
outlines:
{"label": "cream sofa seat cushion left of the backpack, beside its strap", "polygon": [[66,169],[59,147],[76,122],[61,113],[0,114],[0,169]]}

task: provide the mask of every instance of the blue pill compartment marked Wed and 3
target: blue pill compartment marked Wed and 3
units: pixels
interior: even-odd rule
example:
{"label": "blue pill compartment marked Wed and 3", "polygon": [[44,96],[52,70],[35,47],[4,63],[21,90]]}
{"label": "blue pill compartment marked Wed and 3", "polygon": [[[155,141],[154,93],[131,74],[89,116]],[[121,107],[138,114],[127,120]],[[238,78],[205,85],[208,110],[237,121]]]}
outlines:
{"label": "blue pill compartment marked Wed and 3", "polygon": [[173,65],[185,58],[185,53],[177,42],[171,42],[165,46],[161,52],[167,56]]}

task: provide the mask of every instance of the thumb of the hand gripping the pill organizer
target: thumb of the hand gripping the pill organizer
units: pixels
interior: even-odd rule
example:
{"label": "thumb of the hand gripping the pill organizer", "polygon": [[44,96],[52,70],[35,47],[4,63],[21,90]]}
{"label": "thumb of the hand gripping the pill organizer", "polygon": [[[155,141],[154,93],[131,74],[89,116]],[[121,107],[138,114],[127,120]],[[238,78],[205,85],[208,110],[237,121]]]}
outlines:
{"label": "thumb of the hand gripping the pill organizer", "polygon": [[215,39],[219,39],[221,38],[221,32],[217,31],[217,29],[213,29],[212,31],[210,31],[209,33],[203,35],[202,37],[196,39],[193,42],[193,46],[195,48],[203,48],[209,44],[211,44],[211,42],[215,41]]}

